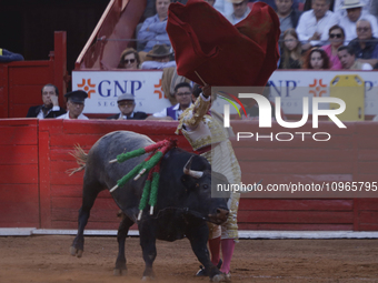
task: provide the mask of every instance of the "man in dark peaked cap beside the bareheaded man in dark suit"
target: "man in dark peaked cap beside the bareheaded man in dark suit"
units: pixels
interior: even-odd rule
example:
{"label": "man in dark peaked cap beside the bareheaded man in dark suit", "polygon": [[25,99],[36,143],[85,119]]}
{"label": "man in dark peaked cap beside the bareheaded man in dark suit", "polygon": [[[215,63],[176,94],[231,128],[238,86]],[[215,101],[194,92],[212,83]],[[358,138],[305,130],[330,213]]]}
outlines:
{"label": "man in dark peaked cap beside the bareheaded man in dark suit", "polygon": [[88,120],[88,117],[81,112],[84,109],[84,100],[88,98],[87,92],[83,90],[76,90],[64,94],[67,98],[67,110],[68,112],[63,115],[57,117],[57,119],[79,119]]}

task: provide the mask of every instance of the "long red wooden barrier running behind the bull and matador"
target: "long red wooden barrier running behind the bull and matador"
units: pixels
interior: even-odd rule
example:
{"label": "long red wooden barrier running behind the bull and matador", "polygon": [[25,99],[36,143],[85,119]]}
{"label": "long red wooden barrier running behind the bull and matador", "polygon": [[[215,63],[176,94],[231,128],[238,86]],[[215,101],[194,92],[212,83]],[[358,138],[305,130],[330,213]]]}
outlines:
{"label": "long red wooden barrier running behind the bull and matador", "polygon": [[[232,125],[236,132],[246,130],[246,121]],[[173,134],[176,127],[168,121],[0,120],[0,226],[76,229],[83,172],[66,173],[77,166],[68,154],[73,145],[88,151],[103,134],[129,130],[156,141],[178,138],[179,146],[190,150],[182,135]],[[266,132],[253,121],[248,127]],[[299,140],[233,142],[242,182],[377,181],[376,123],[347,123],[340,130],[322,122],[320,128],[332,134],[331,140],[309,141],[305,148]],[[312,130],[309,124],[300,129]],[[378,199],[242,199],[238,221],[242,230],[378,231],[377,203]],[[117,229],[117,211],[110,194],[102,192],[88,228]]]}

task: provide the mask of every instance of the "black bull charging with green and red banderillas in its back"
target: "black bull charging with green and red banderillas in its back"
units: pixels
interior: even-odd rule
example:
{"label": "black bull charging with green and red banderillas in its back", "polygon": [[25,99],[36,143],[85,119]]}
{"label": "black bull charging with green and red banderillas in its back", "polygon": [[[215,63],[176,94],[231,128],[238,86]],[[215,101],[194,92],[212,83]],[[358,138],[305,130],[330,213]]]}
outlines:
{"label": "black bull charging with green and red banderillas in its back", "polygon": [[[79,211],[78,235],[70,249],[72,255],[81,256],[83,251],[83,230],[87,225],[90,210],[98,193],[111,189],[117,181],[126,175],[137,164],[141,163],[147,154],[130,159],[123,163],[109,163],[118,154],[133,151],[152,144],[148,137],[118,131],[102,137],[91,148],[88,155],[81,154],[78,160],[84,162],[84,178],[82,189],[82,206]],[[192,158],[191,169],[202,171],[200,178],[185,174],[183,168]],[[130,180],[125,186],[111,193],[125,216],[118,229],[119,253],[116,261],[115,273],[121,273],[126,267],[125,241],[130,226],[138,223],[140,245],[142,249],[146,269],[143,277],[152,277],[152,263],[156,259],[156,239],[175,241],[188,237],[191,247],[208,271],[213,281],[221,280],[219,270],[210,262],[207,249],[208,226],[206,221],[221,224],[227,220],[228,208],[226,199],[211,198],[211,168],[209,162],[199,155],[180,149],[170,150],[161,161],[158,203],[153,215],[149,214],[149,205],[145,209],[140,221],[138,205],[141,199],[146,174],[137,181]],[[217,174],[220,182],[225,176]],[[215,179],[215,175],[212,175]],[[213,180],[215,181],[215,180]],[[227,182],[227,181],[226,181]]]}

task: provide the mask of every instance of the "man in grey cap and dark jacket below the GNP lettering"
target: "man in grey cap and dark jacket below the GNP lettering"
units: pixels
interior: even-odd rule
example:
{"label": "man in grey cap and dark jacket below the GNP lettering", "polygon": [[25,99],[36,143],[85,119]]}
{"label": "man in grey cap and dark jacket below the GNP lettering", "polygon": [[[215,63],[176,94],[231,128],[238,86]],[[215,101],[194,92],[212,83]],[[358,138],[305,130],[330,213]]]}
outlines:
{"label": "man in grey cap and dark jacket below the GNP lettering", "polygon": [[108,117],[109,120],[145,120],[148,115],[145,112],[133,112],[136,101],[131,93],[125,93],[117,99],[120,113]]}

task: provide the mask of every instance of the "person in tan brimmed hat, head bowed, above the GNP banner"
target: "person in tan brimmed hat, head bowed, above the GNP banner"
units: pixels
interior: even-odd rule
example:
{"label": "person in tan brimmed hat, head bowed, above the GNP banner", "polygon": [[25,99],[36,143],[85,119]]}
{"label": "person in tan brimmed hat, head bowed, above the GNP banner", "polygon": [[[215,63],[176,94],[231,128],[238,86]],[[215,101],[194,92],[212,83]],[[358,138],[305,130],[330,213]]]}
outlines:
{"label": "person in tan brimmed hat, head bowed, above the GNP banner", "polygon": [[169,67],[176,67],[176,61],[169,61],[172,52],[167,44],[156,44],[150,52],[147,53],[146,57],[152,59],[152,61],[145,61],[141,64],[141,69],[163,69]]}

